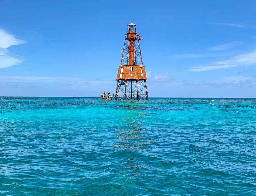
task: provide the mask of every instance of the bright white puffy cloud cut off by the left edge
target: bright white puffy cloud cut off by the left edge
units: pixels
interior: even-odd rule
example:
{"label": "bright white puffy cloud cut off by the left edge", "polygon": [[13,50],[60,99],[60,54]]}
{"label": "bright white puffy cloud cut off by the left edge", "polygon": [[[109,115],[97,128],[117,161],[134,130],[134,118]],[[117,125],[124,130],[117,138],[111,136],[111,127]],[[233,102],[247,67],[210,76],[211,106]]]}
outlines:
{"label": "bright white puffy cloud cut off by the left edge", "polygon": [[9,54],[10,46],[19,45],[25,43],[24,40],[17,39],[15,36],[0,29],[0,68],[10,67],[12,65],[20,64],[21,60],[12,57]]}

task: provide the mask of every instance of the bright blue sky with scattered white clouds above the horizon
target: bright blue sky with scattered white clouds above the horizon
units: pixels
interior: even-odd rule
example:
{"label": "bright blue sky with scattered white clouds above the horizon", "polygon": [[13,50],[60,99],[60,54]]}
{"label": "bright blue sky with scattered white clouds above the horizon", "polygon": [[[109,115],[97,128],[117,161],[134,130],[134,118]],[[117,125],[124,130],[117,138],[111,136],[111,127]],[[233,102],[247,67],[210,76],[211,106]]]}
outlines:
{"label": "bright blue sky with scattered white clouds above the horizon", "polygon": [[255,0],[1,0],[0,96],[115,91],[132,21],[149,97],[255,98],[255,18]]}

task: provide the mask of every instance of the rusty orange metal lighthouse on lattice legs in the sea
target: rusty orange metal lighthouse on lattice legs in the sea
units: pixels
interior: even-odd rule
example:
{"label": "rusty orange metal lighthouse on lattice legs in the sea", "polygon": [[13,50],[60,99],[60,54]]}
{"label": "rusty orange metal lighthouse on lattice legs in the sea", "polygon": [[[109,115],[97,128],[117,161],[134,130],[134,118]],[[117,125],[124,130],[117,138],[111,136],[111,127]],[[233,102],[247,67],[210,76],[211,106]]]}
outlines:
{"label": "rusty orange metal lighthouse on lattice legs in the sea", "polygon": [[115,100],[148,100],[147,76],[142,61],[136,25],[127,25],[121,63],[117,72]]}

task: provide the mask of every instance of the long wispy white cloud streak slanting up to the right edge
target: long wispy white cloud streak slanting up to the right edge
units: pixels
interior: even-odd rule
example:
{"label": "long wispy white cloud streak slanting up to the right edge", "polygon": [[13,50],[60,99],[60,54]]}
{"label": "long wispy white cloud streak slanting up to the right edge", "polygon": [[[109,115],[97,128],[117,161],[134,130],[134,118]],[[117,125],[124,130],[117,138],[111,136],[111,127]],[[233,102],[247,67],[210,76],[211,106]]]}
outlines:
{"label": "long wispy white cloud streak slanting up to the right edge", "polygon": [[256,64],[256,50],[250,53],[237,55],[224,61],[213,62],[204,66],[194,66],[190,71],[208,71],[231,67],[240,67]]}

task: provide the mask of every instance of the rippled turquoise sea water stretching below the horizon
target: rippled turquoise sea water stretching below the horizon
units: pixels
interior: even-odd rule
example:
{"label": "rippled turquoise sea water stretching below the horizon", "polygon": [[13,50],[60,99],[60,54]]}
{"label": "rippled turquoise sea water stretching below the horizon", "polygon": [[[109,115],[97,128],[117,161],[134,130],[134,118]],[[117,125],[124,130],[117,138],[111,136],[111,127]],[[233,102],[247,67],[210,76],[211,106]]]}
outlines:
{"label": "rippled turquoise sea water stretching below the horizon", "polygon": [[244,99],[0,97],[0,195],[256,195]]}

